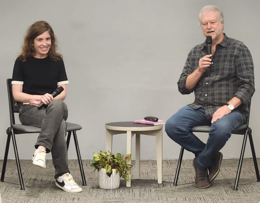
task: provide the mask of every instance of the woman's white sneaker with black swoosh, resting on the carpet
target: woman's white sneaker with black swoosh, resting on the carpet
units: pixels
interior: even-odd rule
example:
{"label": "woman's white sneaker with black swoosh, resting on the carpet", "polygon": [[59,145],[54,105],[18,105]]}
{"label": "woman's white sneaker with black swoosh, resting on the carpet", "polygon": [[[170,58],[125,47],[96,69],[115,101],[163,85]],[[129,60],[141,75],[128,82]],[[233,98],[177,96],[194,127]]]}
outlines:
{"label": "woman's white sneaker with black swoosh, resting on the carpet", "polygon": [[72,175],[65,173],[62,176],[56,178],[55,184],[66,192],[81,192],[81,187],[75,183]]}

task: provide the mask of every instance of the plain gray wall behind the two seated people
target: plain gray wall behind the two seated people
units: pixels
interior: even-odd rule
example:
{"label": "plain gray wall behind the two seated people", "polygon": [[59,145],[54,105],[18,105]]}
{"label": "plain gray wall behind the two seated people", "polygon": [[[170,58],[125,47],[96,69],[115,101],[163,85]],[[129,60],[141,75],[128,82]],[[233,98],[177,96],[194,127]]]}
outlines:
{"label": "plain gray wall behind the two seated people", "polygon": [[[51,24],[69,78],[66,103],[69,122],[82,125],[78,139],[83,159],[105,150],[105,123],[144,116],[167,120],[194,95],[181,95],[177,81],[190,49],[204,41],[199,10],[213,4],[223,10],[225,33],[243,41],[255,65],[256,92],[250,126],[257,157],[259,94],[259,7],[255,1],[3,1],[0,5],[0,159],[10,126],[6,79],[21,51],[29,25]],[[18,118],[18,117],[17,117]],[[18,119],[17,119],[18,121]],[[206,141],[206,134],[198,134]],[[30,159],[37,135],[17,135],[21,159]],[[224,158],[239,157],[243,136],[233,135],[222,149]],[[135,138],[133,138],[134,149]],[[69,158],[75,159],[73,140]],[[163,133],[163,158],[177,158],[180,146]],[[113,138],[113,151],[126,153],[126,136]],[[141,159],[155,159],[155,138],[141,136]],[[50,155],[48,155],[50,158]],[[249,142],[245,157],[251,157]],[[9,158],[14,158],[12,144]],[[193,158],[185,152],[184,158]],[[133,152],[133,159],[135,155]]]}

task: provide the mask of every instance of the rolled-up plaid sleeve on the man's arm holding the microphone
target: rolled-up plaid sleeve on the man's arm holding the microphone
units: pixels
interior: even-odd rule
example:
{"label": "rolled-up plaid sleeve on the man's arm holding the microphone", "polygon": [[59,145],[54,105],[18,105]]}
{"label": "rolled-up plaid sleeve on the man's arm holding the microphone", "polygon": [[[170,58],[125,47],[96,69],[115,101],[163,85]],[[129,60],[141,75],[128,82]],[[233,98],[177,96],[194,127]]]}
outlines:
{"label": "rolled-up plaid sleeve on the man's arm holding the microphone", "polygon": [[193,68],[192,68],[192,65],[191,65],[191,51],[190,53],[188,54],[188,57],[187,57],[187,60],[185,62],[185,65],[184,65],[184,68],[182,70],[182,73],[180,75],[180,79],[179,81],[177,82],[178,84],[178,89],[179,89],[179,92],[181,94],[190,94],[194,91],[194,88],[193,89],[186,89],[186,80],[187,80],[187,77],[188,75],[190,75],[191,73],[193,72]]}

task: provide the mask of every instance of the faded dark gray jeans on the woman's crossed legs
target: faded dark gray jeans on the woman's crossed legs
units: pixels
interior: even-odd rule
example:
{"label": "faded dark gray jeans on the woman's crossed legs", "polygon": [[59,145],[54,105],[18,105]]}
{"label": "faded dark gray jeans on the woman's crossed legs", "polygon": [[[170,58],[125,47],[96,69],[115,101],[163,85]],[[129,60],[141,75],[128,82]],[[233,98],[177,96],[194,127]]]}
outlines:
{"label": "faded dark gray jeans on the woman's crossed legs", "polygon": [[19,119],[23,125],[41,128],[35,148],[38,145],[46,147],[51,152],[55,176],[58,178],[70,172],[68,167],[68,151],[66,144],[66,120],[68,117],[67,105],[60,99],[53,100],[47,107],[37,109],[29,104],[18,103]]}

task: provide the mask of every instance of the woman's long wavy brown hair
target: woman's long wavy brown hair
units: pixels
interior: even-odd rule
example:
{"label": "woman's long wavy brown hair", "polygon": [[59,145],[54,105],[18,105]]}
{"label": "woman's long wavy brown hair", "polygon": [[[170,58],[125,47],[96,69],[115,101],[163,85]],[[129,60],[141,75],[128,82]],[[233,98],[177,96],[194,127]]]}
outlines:
{"label": "woman's long wavy brown hair", "polygon": [[51,37],[51,47],[48,52],[48,56],[53,60],[62,59],[62,55],[56,52],[57,44],[55,43],[55,36],[54,36],[53,29],[46,21],[37,21],[29,27],[26,36],[24,37],[22,53],[19,55],[19,57],[22,57],[23,61],[25,61],[26,58],[30,56],[36,55],[35,49],[33,47],[34,39],[46,31],[49,31]]}

